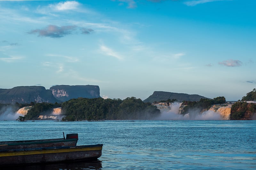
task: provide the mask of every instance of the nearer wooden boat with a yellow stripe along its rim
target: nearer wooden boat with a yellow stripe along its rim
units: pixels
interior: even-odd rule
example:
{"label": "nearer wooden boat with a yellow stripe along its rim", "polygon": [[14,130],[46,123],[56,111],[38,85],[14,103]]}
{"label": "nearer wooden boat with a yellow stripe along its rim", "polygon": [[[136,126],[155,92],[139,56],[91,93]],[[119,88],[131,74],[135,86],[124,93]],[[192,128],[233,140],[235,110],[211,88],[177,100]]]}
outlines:
{"label": "nearer wooden boat with a yellow stripe along its rim", "polygon": [[97,160],[103,144],[0,150],[0,165]]}

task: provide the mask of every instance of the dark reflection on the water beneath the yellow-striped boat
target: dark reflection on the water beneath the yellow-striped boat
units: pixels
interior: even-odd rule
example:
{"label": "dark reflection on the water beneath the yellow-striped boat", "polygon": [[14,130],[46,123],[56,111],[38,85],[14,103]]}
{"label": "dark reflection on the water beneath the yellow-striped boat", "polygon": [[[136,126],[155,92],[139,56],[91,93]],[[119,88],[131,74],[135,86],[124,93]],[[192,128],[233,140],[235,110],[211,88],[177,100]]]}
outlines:
{"label": "dark reflection on the water beneath the yellow-striped boat", "polygon": [[8,170],[97,170],[101,169],[101,161],[83,162],[74,161],[68,163],[44,164],[44,165],[22,165],[22,166],[2,166],[1,169]]}

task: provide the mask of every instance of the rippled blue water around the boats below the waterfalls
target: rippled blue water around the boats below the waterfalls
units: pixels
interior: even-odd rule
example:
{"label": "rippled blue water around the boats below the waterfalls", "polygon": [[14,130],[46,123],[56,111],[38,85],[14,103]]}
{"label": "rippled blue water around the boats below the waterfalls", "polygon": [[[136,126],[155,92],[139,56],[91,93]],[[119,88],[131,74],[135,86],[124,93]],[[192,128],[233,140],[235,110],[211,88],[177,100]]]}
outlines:
{"label": "rippled blue water around the boats below the waterfalls", "polygon": [[255,169],[256,121],[0,121],[1,141],[62,138],[104,144],[94,162],[17,169]]}

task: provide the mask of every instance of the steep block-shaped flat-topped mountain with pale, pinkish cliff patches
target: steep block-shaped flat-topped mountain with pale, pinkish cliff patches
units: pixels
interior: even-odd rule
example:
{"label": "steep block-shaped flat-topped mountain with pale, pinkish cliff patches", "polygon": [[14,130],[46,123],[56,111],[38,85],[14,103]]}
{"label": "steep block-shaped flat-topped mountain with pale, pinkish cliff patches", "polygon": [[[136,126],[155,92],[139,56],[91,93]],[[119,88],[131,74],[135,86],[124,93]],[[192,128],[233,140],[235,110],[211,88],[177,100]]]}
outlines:
{"label": "steep block-shaped flat-topped mountain with pale, pinkish cliff patches", "polygon": [[57,85],[52,86],[50,90],[53,96],[62,102],[78,97],[89,99],[100,97],[100,88],[94,85]]}

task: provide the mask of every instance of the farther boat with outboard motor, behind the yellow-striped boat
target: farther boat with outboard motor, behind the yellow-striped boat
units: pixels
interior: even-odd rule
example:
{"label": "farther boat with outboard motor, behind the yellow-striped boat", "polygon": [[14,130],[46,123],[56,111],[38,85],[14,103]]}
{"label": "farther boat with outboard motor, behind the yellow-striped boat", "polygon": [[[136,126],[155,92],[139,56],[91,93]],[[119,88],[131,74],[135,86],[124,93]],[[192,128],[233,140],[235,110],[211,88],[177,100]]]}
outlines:
{"label": "farther boat with outboard motor, behind the yellow-striped boat", "polygon": [[78,141],[77,133],[67,134],[66,138],[65,136],[63,136],[63,138],[58,138],[58,139],[1,141],[0,150],[55,147],[55,146],[76,146],[77,141]]}

